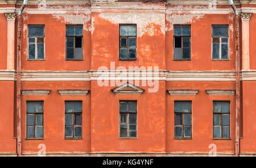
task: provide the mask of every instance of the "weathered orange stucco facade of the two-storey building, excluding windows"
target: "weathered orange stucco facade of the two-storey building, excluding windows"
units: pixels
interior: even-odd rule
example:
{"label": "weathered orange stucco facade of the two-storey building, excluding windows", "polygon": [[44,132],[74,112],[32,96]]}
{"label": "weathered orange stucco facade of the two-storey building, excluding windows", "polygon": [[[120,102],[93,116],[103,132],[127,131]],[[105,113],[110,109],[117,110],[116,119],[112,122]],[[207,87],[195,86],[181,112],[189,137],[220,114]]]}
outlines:
{"label": "weathered orange stucco facade of the two-storey building, excluding windows", "polygon": [[[218,156],[234,156],[235,15],[228,1],[188,3],[77,0],[71,4],[64,0],[51,3],[28,0],[22,13],[18,81],[17,12],[22,1],[3,1],[0,4],[0,156],[17,156],[17,129],[21,132],[22,156],[37,156],[42,144],[48,156],[208,156],[211,145],[216,146]],[[256,1],[241,0],[235,4],[240,11],[240,156],[254,156]],[[120,24],[136,25],[135,60],[119,57]],[[44,26],[41,60],[28,59],[28,27],[33,25]],[[72,25],[82,26],[82,60],[66,59],[66,29]],[[191,28],[191,57],[175,60],[174,26],[184,25]],[[226,60],[212,58],[214,25],[228,26]],[[14,34],[9,31],[12,26]],[[248,31],[244,29],[242,33],[242,27]],[[243,45],[247,42],[249,47]],[[21,83],[21,128],[16,124],[17,82]],[[133,83],[134,87],[128,87],[131,90],[113,90],[127,82]],[[71,100],[82,102],[81,138],[65,138],[65,102]],[[137,101],[136,137],[119,136],[122,100]],[[27,137],[29,101],[43,101],[41,138]],[[191,102],[190,138],[175,138],[175,101]],[[214,101],[230,103],[229,138],[213,138]]]}

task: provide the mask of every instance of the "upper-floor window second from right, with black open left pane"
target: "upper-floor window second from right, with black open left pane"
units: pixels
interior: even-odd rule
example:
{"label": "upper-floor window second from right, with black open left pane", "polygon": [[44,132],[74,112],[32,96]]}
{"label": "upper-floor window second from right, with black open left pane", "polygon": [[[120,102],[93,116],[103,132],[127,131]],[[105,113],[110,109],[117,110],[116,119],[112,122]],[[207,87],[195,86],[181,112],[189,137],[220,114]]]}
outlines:
{"label": "upper-floor window second from right, with black open left pane", "polygon": [[174,26],[174,60],[190,60],[190,26]]}

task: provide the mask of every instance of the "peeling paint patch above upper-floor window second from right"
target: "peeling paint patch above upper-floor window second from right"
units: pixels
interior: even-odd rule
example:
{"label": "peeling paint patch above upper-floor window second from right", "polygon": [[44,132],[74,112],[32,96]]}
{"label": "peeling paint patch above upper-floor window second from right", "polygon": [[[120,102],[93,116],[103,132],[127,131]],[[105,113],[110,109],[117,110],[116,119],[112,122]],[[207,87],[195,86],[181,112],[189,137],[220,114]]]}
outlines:
{"label": "peeling paint patch above upper-floor window second from right", "polygon": [[204,14],[172,14],[166,15],[166,20],[170,25],[166,26],[166,31],[173,30],[173,24],[195,23],[196,20],[203,18]]}

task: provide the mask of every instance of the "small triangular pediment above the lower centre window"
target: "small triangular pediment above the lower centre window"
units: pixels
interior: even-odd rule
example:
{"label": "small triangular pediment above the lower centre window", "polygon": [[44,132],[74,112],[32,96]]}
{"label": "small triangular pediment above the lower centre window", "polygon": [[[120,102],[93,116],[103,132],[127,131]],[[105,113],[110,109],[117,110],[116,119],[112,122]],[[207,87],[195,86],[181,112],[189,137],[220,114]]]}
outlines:
{"label": "small triangular pediment above the lower centre window", "polygon": [[123,85],[120,85],[118,87],[115,87],[112,89],[114,94],[142,94],[144,89],[141,87],[133,85],[133,83],[123,83]]}

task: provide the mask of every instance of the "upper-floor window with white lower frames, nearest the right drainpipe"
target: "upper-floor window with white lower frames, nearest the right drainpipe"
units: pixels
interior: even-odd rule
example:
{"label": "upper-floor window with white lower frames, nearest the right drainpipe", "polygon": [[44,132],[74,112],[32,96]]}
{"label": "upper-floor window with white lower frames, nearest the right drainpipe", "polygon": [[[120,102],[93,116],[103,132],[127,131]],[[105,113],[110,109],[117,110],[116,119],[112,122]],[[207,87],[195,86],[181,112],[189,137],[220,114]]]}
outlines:
{"label": "upper-floor window with white lower frames, nearest the right drainpipe", "polygon": [[229,59],[229,33],[228,26],[212,27],[212,59]]}

